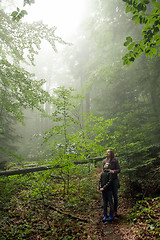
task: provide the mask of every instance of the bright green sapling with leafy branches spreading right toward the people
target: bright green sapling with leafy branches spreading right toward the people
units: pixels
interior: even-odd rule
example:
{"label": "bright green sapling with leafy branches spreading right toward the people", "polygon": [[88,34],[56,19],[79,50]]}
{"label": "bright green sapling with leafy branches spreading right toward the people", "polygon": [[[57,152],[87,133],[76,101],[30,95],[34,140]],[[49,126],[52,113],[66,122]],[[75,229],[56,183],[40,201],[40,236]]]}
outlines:
{"label": "bright green sapling with leafy branches spreading right toward the people", "polygon": [[[54,112],[50,116],[54,126],[46,132],[45,142],[53,166],[60,166],[58,174],[64,179],[66,192],[71,189],[70,179],[75,171],[73,162],[102,155],[105,140],[113,119],[104,120],[92,114],[83,116],[83,126],[75,115],[74,101],[81,96],[72,95],[64,87],[54,91]],[[47,159],[48,160],[48,159]],[[63,167],[63,169],[61,169]],[[90,171],[90,170],[89,170]],[[80,173],[79,173],[80,174]]]}

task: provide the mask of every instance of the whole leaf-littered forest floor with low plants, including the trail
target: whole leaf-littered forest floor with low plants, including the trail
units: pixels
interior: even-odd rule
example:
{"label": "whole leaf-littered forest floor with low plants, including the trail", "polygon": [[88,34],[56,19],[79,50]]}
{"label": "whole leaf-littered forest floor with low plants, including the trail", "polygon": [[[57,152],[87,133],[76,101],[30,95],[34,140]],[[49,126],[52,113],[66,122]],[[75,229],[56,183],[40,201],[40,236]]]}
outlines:
{"label": "whole leaf-littered forest floor with low plants, including the trail", "polygon": [[[144,199],[141,203],[136,201],[135,205],[134,199],[126,197],[120,188],[118,217],[111,223],[103,223],[102,195],[97,191],[98,174],[87,178],[83,189],[74,191],[72,188],[66,196],[59,191],[61,182],[55,188],[55,182],[45,176],[41,179],[41,173],[33,176],[1,179],[0,239],[160,240],[159,197]],[[136,209],[132,223],[130,210],[133,206]]]}

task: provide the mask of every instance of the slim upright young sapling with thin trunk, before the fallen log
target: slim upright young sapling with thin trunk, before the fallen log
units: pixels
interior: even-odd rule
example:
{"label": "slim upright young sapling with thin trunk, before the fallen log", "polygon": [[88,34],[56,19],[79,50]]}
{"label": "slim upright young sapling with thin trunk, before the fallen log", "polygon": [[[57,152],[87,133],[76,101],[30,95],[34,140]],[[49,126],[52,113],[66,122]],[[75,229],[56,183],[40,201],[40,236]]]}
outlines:
{"label": "slim upright young sapling with thin trunk, before the fallen log", "polygon": [[70,174],[74,166],[71,161],[73,160],[71,152],[74,151],[74,144],[71,144],[69,135],[75,131],[75,127],[79,124],[75,116],[75,100],[80,95],[75,96],[72,92],[72,88],[65,89],[64,87],[54,90],[53,113],[49,116],[53,127],[45,133],[50,160],[54,160],[53,164],[64,166],[63,170],[60,169],[59,174],[64,175],[67,193],[69,191]]}

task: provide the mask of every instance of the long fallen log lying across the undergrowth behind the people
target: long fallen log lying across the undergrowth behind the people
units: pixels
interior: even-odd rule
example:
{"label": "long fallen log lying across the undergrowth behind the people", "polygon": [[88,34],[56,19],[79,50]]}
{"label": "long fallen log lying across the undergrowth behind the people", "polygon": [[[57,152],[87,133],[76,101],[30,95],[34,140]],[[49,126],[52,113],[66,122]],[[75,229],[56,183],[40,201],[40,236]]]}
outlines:
{"label": "long fallen log lying across the undergrowth behind the people", "polygon": [[[84,161],[73,161],[75,165],[78,164],[88,164],[88,163],[94,163],[96,164],[98,161],[102,161],[105,157],[96,157],[96,158],[89,158],[88,160]],[[45,171],[49,169],[54,168],[62,168],[65,165],[45,165],[45,166],[39,166],[39,167],[30,167],[30,168],[21,168],[21,169],[15,169],[15,170],[7,170],[7,171],[0,171],[0,176],[12,176],[12,175],[20,175],[20,174],[27,174],[27,173],[33,173],[33,172],[39,172],[39,171]]]}

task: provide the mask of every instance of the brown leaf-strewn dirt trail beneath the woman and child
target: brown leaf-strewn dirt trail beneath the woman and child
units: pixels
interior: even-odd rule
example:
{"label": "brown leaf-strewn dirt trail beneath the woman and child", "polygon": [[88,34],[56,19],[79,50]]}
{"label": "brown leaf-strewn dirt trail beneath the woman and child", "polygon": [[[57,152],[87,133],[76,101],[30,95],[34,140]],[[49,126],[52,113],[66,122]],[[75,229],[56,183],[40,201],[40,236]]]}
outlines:
{"label": "brown leaf-strewn dirt trail beneath the woman and child", "polygon": [[95,206],[92,206],[90,220],[93,224],[88,224],[90,234],[87,240],[91,240],[92,236],[96,240],[135,240],[134,233],[127,221],[129,209],[129,202],[123,197],[119,197],[118,217],[115,217],[111,223],[103,223],[103,208],[101,194],[99,194],[98,201],[95,202]]}

